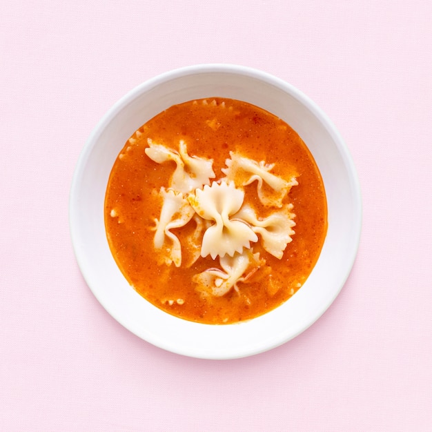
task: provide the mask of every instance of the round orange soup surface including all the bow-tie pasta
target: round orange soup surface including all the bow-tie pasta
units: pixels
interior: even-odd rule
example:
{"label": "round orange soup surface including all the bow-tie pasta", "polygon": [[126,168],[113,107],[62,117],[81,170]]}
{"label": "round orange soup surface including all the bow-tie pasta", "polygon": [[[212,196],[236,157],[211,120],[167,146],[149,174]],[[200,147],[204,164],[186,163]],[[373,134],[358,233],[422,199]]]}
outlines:
{"label": "round orange soup surface including all the bow-tie pasta", "polygon": [[104,211],[112,255],[133,288],[206,324],[286,302],[327,229],[322,178],[299,135],[261,108],[217,97],[172,106],[128,139]]}

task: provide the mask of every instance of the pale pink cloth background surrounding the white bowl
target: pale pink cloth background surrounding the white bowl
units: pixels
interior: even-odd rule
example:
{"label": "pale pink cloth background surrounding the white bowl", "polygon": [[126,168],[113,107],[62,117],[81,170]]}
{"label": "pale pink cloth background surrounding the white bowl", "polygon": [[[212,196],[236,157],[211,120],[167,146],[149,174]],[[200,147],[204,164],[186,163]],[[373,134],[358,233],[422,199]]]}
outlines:
{"label": "pale pink cloth background surrounding the white bowl", "polygon": [[[431,431],[432,3],[2,1],[1,431]],[[241,360],[135,337],[81,277],[77,158],[102,115],[159,72],[277,75],[351,150],[364,219],[322,318]]]}

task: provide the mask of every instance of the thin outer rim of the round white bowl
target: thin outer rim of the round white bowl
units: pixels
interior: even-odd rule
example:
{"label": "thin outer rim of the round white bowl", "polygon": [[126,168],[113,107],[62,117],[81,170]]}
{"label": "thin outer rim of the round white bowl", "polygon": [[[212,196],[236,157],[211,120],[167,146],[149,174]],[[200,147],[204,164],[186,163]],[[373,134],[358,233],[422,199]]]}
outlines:
{"label": "thin outer rim of the round white bowl", "polygon": [[[346,265],[345,274],[340,279],[341,281],[340,285],[337,287],[337,289],[333,291],[333,297],[329,298],[326,304],[322,305],[322,310],[320,311],[320,314],[315,315],[315,318],[313,320],[309,320],[302,327],[300,327],[298,331],[292,333],[290,337],[275,338],[271,343],[268,342],[266,346],[262,346],[259,349],[255,348],[253,352],[247,350],[242,351],[242,349],[239,349],[235,353],[229,353],[229,354],[219,353],[218,355],[217,353],[208,354],[202,352],[200,353],[199,351],[196,353],[190,353],[190,350],[185,351],[178,347],[173,348],[173,346],[170,346],[170,344],[166,344],[164,341],[158,340],[157,337],[153,339],[151,337],[144,338],[136,331],[134,331],[134,329],[130,328],[129,326],[126,326],[123,322],[121,322],[121,320],[119,320],[119,318],[116,316],[117,314],[114,313],[112,310],[110,310],[110,307],[105,304],[103,299],[100,298],[97,291],[95,291],[95,289],[92,287],[92,285],[88,280],[85,259],[78,252],[79,248],[77,244],[79,242],[79,239],[77,238],[77,233],[75,230],[75,217],[74,217],[75,208],[73,208],[73,204],[77,199],[76,195],[79,187],[79,179],[81,178],[81,175],[84,173],[84,170],[86,168],[85,162],[89,153],[92,151],[92,148],[95,146],[97,138],[104,130],[104,128],[106,128],[106,126],[110,124],[112,119],[114,119],[115,116],[119,112],[121,112],[121,110],[125,106],[128,106],[128,104],[130,104],[131,101],[138,98],[143,92],[146,92],[151,88],[155,88],[161,84],[164,84],[166,83],[166,81],[171,81],[179,77],[185,77],[187,75],[221,73],[221,72],[233,74],[233,75],[240,75],[244,77],[251,77],[254,79],[258,79],[259,81],[264,81],[266,84],[271,84],[272,86],[276,86],[280,90],[287,92],[289,95],[297,99],[297,101],[300,101],[302,105],[304,105],[309,111],[313,113],[315,117],[317,117],[317,119],[320,121],[322,126],[326,128],[326,131],[333,139],[333,142],[337,147],[337,151],[342,157],[344,161],[344,165],[347,167],[348,173],[350,174],[351,188],[353,189],[353,193],[354,193],[353,199],[355,199],[355,206],[358,211],[355,214],[355,220],[353,221],[353,227],[355,228],[355,233],[353,233],[354,235],[351,238],[353,242],[353,246],[351,246],[350,248],[350,255],[348,257],[348,265]],[[360,180],[357,175],[357,170],[355,169],[353,159],[348,150],[348,147],[346,146],[344,140],[342,139],[340,132],[337,130],[337,128],[335,128],[335,125],[333,124],[331,119],[326,115],[326,113],[319,106],[317,106],[317,104],[312,99],[306,96],[302,91],[298,90],[292,84],[289,84],[283,79],[275,77],[274,75],[271,75],[268,72],[264,72],[262,70],[257,70],[255,68],[251,68],[248,66],[239,66],[231,63],[202,63],[202,64],[196,64],[192,66],[185,66],[182,68],[176,68],[173,70],[168,70],[167,72],[162,72],[161,74],[156,75],[155,77],[147,79],[146,81],[139,84],[138,86],[135,86],[135,88],[132,88],[132,90],[127,92],[126,95],[121,97],[115,104],[111,106],[111,108],[108,109],[108,111],[103,115],[103,117],[101,117],[101,119],[99,120],[95,128],[93,128],[86,143],[84,144],[84,147],[81,149],[79,158],[77,159],[77,163],[72,177],[72,182],[70,185],[68,216],[69,216],[69,228],[70,228],[70,236],[72,240],[72,247],[81,274],[86,280],[86,283],[90,288],[90,291],[92,291],[93,295],[95,295],[99,303],[101,303],[101,305],[104,306],[106,311],[112,317],[114,317],[115,320],[120,322],[122,326],[127,328],[129,331],[131,331],[138,337],[145,339],[147,342],[150,342],[155,346],[159,346],[159,348],[166,349],[167,351],[171,351],[177,354],[186,355],[190,357],[206,358],[206,359],[213,359],[213,360],[226,360],[226,359],[240,358],[240,357],[246,357],[249,355],[262,353],[264,351],[271,350],[281,344],[284,344],[285,342],[288,342],[288,340],[292,340],[294,337],[296,337],[297,335],[305,331],[309,326],[311,326],[314,322],[316,322],[322,316],[322,314],[324,314],[324,312],[328,309],[328,307],[331,306],[331,304],[333,303],[337,295],[339,295],[340,291],[342,291],[342,287],[346,283],[346,279],[348,279],[348,276],[351,273],[351,270],[355,263],[355,258],[357,256],[358,248],[360,246],[360,237],[362,231],[362,193],[360,188]],[[176,319],[181,320],[180,318],[176,318]],[[193,324],[197,324],[197,323],[193,323]],[[199,325],[210,326],[210,324],[199,324]],[[230,326],[230,325],[237,326],[239,324],[228,324],[225,326]]]}

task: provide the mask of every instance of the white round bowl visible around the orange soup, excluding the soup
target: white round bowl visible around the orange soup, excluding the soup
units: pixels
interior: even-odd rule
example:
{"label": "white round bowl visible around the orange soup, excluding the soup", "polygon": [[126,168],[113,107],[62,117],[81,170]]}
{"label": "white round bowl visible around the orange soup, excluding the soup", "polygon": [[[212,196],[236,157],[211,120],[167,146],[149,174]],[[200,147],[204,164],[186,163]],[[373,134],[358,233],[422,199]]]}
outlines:
{"label": "white round bowl visible around the orange soup, excluding the soup", "polygon": [[[275,310],[247,322],[197,324],[153,306],[126,282],[104,226],[110,170],[126,140],[162,110],[184,101],[227,97],[281,117],[302,137],[320,168],[328,204],[322,253],[302,288]],[[70,231],[77,262],[97,300],[120,324],[174,353],[230,359],[261,353],[302,333],[326,311],[351,271],[360,241],[360,186],[335,126],[311,99],[267,73],[233,65],[199,65],[146,81],[115,104],[79,157],[70,191]]]}

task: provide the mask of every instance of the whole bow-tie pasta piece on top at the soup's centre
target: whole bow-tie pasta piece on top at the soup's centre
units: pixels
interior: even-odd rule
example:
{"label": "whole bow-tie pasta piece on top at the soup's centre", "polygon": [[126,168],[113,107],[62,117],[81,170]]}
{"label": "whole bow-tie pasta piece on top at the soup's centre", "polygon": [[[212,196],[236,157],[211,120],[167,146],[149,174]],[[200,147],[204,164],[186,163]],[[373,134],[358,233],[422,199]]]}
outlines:
{"label": "whole bow-tie pasta piece on top at the soup's centre", "polygon": [[237,213],[244,201],[244,191],[235,188],[233,181],[220,184],[213,181],[211,186],[195,190],[189,196],[190,205],[203,219],[213,220],[215,224],[207,228],[202,239],[201,256],[210,255],[232,257],[243,248],[250,248],[251,242],[258,237],[248,224],[239,220],[230,220]]}

